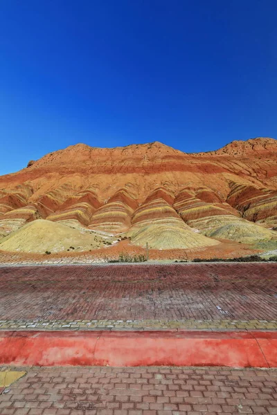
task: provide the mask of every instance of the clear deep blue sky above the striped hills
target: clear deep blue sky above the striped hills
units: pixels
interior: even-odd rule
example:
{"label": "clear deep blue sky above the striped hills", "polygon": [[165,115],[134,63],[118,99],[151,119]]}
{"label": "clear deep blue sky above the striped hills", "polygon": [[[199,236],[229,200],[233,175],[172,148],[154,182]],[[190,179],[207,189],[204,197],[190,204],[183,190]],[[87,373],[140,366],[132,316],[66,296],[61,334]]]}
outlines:
{"label": "clear deep blue sky above the striped hills", "polygon": [[276,0],[1,0],[0,174],[49,151],[277,138]]}

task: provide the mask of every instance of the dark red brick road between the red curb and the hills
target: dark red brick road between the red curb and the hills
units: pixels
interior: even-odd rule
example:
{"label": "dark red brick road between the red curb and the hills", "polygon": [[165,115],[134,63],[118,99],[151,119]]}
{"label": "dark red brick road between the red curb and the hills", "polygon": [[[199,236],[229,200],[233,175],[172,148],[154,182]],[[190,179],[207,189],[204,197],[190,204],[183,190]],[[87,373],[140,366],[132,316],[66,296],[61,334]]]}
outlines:
{"label": "dark red brick road between the red curb and the hills", "polygon": [[0,319],[270,322],[277,265],[0,267]]}

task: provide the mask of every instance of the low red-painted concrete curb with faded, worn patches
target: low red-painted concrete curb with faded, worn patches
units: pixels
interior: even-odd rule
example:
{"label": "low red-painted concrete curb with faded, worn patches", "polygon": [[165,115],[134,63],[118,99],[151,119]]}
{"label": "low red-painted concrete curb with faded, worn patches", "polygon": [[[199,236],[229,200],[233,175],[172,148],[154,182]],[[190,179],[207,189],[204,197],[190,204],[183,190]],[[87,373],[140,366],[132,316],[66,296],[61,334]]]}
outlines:
{"label": "low red-painted concrete curb with faded, worn patches", "polygon": [[277,332],[1,331],[0,364],[277,367]]}

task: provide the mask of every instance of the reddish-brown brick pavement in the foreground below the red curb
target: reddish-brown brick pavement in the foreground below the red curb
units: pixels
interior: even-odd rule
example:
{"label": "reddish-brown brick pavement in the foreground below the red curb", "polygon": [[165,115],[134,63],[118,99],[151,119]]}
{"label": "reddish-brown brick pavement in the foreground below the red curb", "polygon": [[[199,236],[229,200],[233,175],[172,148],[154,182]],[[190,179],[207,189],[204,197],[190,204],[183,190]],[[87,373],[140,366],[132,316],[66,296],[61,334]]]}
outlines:
{"label": "reddish-brown brick pavement in the foreground below the red curb", "polygon": [[276,369],[58,367],[27,371],[8,393],[1,394],[1,415],[277,414]]}

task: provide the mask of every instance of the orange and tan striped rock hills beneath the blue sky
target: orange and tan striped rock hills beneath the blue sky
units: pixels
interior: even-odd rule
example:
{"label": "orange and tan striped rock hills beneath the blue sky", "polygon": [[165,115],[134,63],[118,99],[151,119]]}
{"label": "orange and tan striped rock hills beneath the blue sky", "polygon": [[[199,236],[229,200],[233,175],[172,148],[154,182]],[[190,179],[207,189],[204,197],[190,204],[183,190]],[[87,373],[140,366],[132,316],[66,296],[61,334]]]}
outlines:
{"label": "orange and tan striped rock hills beneath the blue sky", "polygon": [[[8,235],[0,250],[51,250],[46,234],[54,229],[82,250],[106,246],[108,235],[163,250],[216,249],[218,239],[274,249],[277,232],[266,228],[276,225],[273,138],[199,154],[161,142],[114,149],[78,144],[0,177],[0,237]],[[36,238],[42,238],[37,246]],[[55,241],[52,249],[67,245]]]}

